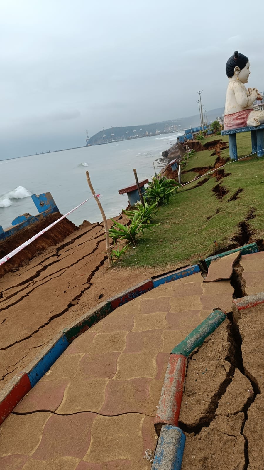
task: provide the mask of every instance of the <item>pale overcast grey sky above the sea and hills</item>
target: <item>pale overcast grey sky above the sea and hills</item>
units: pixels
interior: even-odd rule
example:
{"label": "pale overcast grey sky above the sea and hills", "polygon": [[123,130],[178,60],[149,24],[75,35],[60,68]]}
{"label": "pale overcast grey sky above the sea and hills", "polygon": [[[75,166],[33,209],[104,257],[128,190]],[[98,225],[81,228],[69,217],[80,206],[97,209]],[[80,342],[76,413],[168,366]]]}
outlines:
{"label": "pale overcast grey sky above the sea and hills", "polygon": [[220,108],[234,50],[264,91],[262,1],[1,0],[0,159]]}

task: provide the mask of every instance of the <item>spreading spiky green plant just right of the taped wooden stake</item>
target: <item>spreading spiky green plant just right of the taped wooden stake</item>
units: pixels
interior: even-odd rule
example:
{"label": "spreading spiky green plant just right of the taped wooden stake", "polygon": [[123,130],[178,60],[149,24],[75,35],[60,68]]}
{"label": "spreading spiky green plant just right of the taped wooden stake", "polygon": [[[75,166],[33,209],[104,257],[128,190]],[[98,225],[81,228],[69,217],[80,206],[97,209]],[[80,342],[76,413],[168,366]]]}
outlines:
{"label": "spreading spiky green plant just right of the taped wooden stake", "polygon": [[150,230],[153,232],[152,227],[157,227],[160,224],[148,224],[143,223],[140,219],[139,212],[135,212],[131,220],[131,224],[120,224],[114,219],[111,219],[114,222],[112,228],[109,228],[109,237],[116,242],[116,240],[128,240],[136,246],[135,240],[139,235],[144,235],[144,230]]}

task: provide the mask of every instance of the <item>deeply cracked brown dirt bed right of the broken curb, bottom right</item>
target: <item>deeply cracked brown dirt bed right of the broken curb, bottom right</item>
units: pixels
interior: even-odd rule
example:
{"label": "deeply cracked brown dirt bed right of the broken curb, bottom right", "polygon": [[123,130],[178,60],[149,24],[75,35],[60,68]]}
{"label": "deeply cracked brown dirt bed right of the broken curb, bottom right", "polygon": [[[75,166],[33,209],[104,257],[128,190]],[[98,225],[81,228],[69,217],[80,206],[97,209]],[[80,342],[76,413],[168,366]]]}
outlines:
{"label": "deeply cracked brown dirt bed right of the broken curb, bottom right", "polygon": [[264,306],[229,318],[189,360],[179,427],[182,470],[264,468]]}

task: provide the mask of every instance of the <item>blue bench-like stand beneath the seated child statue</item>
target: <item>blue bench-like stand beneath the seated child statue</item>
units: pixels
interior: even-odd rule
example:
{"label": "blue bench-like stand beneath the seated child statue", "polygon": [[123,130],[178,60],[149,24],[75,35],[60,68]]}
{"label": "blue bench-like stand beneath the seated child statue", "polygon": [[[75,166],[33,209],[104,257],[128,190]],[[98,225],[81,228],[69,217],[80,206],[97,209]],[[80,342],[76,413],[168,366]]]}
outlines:
{"label": "blue bench-like stand beneath the seated child statue", "polygon": [[230,129],[228,131],[221,131],[221,135],[228,135],[229,141],[229,156],[230,160],[237,160],[237,146],[236,146],[236,134],[241,132],[251,132],[251,145],[252,153],[257,152],[258,157],[264,155],[264,124],[254,127],[248,125],[246,127],[239,127],[238,129]]}

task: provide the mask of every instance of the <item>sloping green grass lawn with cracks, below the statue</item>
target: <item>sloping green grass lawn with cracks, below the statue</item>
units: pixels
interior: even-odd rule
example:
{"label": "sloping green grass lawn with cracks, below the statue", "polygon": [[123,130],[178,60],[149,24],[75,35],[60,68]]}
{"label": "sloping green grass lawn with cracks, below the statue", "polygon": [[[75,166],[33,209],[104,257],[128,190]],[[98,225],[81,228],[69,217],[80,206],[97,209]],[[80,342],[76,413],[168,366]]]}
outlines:
{"label": "sloping green grass lawn with cracks, below the statue", "polygon": [[[221,136],[216,136],[221,139]],[[210,136],[209,139],[216,140]],[[204,139],[202,143],[209,141]],[[227,141],[227,137],[223,141]],[[237,135],[238,155],[251,152],[249,133]],[[196,152],[186,165],[185,171],[196,167],[211,166],[217,156],[210,157],[213,150]],[[229,149],[221,151],[221,157],[229,157]],[[145,242],[139,240],[134,249],[123,255],[121,266],[171,266],[184,265],[205,258],[234,243],[233,238],[241,233],[244,243],[252,232],[253,239],[264,237],[264,157],[256,155],[236,161],[225,167],[231,173],[217,182],[212,175],[202,186],[192,188],[197,182],[179,188],[170,198],[169,204],[160,207],[153,222],[161,222],[154,232],[145,234]],[[188,178],[186,179],[186,175]],[[185,180],[192,180],[197,172],[186,172]],[[220,200],[212,191],[216,185],[225,187],[227,194]],[[236,200],[228,201],[237,189],[243,189]],[[248,211],[254,209],[254,218],[245,221]],[[214,244],[217,241],[217,248]]]}

